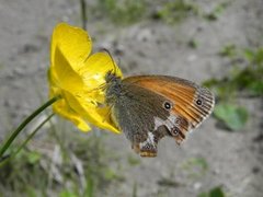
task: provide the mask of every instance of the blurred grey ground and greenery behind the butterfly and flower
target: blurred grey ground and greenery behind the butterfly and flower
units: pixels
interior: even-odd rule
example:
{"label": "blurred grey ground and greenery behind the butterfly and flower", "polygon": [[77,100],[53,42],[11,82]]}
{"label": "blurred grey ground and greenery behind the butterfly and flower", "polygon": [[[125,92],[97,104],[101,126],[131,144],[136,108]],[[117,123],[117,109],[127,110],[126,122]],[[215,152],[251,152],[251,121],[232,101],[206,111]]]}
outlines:
{"label": "blurred grey ground and greenery behind the butterfly and flower", "polygon": [[[0,0],[0,141],[48,99],[59,22],[87,27],[125,76],[176,76],[211,89],[215,112],[182,146],[140,158],[124,135],[55,117],[0,169],[0,196],[262,197],[262,0]],[[12,146],[49,114],[43,113]]]}

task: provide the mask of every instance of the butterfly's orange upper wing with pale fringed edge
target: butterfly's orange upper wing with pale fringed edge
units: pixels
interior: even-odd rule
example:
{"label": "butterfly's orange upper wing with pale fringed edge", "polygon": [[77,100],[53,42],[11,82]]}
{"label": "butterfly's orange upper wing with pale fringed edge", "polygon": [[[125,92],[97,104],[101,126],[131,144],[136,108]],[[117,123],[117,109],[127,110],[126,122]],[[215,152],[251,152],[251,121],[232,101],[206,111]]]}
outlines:
{"label": "butterfly's orange upper wing with pale fringed edge", "polygon": [[[168,120],[156,119],[156,134],[161,137],[163,134],[171,134],[178,143],[185,139],[187,131],[199,126],[209,116],[215,104],[214,95],[206,88],[181,78],[138,76],[123,81],[152,91],[172,102]],[[172,125],[169,127],[169,124]]]}

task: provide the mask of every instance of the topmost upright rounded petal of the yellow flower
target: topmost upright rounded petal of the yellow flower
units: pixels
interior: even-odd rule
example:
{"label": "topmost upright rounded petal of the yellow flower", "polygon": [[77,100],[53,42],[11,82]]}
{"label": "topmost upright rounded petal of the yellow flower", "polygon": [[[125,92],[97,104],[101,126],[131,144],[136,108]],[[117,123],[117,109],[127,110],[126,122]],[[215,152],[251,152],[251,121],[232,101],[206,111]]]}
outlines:
{"label": "topmost upright rounded petal of the yellow flower", "polygon": [[67,23],[58,24],[52,38],[52,65],[55,65],[56,48],[60,48],[73,70],[78,70],[89,57],[92,48],[91,37],[82,28],[70,26]]}

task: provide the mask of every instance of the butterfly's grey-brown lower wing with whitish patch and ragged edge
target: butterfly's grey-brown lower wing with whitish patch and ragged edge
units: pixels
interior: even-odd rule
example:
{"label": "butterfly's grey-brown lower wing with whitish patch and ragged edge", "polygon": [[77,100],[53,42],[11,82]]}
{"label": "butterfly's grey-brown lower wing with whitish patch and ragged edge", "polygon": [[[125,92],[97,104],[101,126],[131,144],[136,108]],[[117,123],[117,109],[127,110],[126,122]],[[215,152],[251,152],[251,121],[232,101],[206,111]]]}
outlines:
{"label": "butterfly's grey-brown lower wing with whitish patch and ragged edge", "polygon": [[161,125],[173,125],[168,120],[170,112],[163,108],[167,99],[136,84],[123,81],[110,84],[106,103],[111,105],[111,118],[132,142],[133,149],[141,157],[156,157],[158,141],[169,135]]}

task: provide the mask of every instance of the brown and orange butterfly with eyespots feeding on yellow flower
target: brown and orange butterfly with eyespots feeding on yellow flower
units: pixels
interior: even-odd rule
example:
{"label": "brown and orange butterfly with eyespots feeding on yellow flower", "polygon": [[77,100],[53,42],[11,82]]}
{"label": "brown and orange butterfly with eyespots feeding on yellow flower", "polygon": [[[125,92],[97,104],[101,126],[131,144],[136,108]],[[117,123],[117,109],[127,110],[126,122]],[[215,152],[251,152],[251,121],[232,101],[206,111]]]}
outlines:
{"label": "brown and orange butterfly with eyespots feeding on yellow flower", "polygon": [[169,76],[135,76],[121,79],[105,74],[105,103],[111,119],[140,157],[157,157],[163,137],[180,144],[198,127],[215,105],[213,93],[194,82]]}

